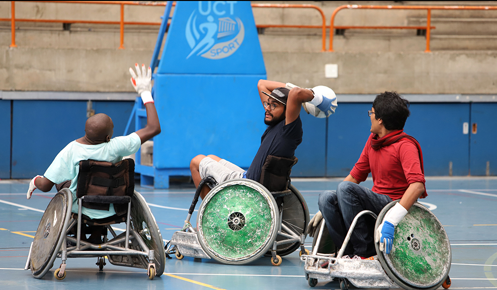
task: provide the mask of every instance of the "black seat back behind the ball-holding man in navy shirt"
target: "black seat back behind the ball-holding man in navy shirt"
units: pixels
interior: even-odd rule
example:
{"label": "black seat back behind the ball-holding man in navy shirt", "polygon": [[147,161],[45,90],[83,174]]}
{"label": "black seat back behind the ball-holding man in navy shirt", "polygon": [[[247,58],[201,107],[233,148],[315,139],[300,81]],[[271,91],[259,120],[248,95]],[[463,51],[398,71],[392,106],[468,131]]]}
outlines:
{"label": "black seat back behind the ball-holding man in navy shirt", "polygon": [[259,183],[274,194],[290,193],[290,173],[299,159],[268,155],[260,172]]}

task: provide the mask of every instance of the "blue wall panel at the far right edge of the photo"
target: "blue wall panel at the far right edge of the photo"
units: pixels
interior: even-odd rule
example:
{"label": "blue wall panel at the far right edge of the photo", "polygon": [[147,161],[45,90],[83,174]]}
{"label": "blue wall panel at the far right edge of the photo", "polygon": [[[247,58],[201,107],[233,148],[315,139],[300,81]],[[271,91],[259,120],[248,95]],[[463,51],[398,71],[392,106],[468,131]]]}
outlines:
{"label": "blue wall panel at the far right edge of the photo", "polygon": [[472,103],[471,124],[477,124],[476,134],[471,134],[471,175],[497,175],[497,103]]}

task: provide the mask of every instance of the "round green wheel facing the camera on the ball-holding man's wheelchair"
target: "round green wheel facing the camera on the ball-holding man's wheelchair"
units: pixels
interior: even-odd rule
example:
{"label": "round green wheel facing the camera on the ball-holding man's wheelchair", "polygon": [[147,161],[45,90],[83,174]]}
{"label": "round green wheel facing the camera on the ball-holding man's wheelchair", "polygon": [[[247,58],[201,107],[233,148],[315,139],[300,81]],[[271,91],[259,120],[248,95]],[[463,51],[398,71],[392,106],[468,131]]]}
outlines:
{"label": "round green wheel facing the camera on the ball-holding man's wheelchair", "polygon": [[214,260],[241,265],[258,259],[277,233],[278,209],[259,183],[234,179],[214,187],[197,215],[197,235],[203,250]]}

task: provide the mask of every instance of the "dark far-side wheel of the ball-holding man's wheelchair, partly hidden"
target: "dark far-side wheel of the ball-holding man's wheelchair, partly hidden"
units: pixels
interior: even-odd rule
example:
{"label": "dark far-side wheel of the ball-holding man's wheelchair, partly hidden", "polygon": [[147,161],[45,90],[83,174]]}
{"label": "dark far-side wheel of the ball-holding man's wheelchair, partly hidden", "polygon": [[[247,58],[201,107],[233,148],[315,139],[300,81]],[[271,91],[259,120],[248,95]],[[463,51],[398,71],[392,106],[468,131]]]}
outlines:
{"label": "dark far-side wheel of the ball-holding man's wheelchair, partly hidden", "polygon": [[[290,185],[291,195],[283,197],[283,215],[282,223],[292,229],[293,234],[301,235],[307,230],[309,223],[309,209],[302,194]],[[282,229],[283,230],[283,229]],[[283,230],[284,232],[284,230]],[[276,240],[281,241],[288,239],[287,237],[277,235]],[[276,254],[279,256],[286,256],[293,253],[300,247],[300,242],[281,244],[276,248]],[[267,257],[271,256],[271,251],[264,254]]]}

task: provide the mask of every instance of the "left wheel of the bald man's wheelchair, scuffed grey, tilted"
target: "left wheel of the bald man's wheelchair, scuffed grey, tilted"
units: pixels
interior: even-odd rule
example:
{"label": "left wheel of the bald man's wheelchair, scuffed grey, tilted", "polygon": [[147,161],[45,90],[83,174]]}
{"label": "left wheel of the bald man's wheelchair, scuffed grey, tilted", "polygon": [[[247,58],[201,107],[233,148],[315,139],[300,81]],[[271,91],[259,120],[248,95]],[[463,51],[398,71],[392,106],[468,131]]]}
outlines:
{"label": "left wheel of the bald man's wheelchair, scuffed grey, tilted", "polygon": [[31,247],[30,268],[34,278],[41,279],[52,268],[64,241],[72,206],[73,196],[67,188],[48,204]]}

